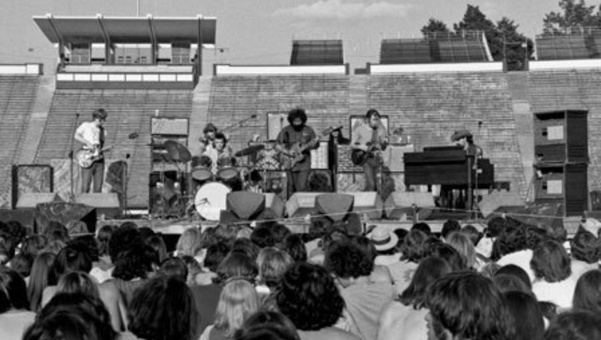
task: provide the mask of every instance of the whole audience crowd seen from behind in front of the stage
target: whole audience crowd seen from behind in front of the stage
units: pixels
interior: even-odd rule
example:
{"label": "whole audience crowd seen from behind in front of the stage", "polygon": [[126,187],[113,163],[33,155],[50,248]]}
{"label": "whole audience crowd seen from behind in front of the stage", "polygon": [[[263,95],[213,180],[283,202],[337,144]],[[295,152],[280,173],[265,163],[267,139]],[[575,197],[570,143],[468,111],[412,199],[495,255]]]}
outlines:
{"label": "whole audience crowd seen from behind in front of the stage", "polygon": [[601,339],[600,224],[221,224],[169,252],[131,222],[0,222],[0,339]]}

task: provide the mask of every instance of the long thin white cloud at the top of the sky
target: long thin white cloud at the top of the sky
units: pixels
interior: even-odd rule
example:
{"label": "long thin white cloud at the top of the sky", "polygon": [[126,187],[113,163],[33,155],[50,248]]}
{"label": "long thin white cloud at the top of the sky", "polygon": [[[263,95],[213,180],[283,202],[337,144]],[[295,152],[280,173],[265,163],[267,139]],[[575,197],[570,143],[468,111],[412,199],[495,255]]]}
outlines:
{"label": "long thin white cloud at the top of the sky", "polygon": [[317,1],[310,5],[281,8],[274,16],[299,19],[370,19],[374,17],[404,17],[411,8],[408,4],[391,4],[380,1],[373,4],[348,3],[341,0]]}

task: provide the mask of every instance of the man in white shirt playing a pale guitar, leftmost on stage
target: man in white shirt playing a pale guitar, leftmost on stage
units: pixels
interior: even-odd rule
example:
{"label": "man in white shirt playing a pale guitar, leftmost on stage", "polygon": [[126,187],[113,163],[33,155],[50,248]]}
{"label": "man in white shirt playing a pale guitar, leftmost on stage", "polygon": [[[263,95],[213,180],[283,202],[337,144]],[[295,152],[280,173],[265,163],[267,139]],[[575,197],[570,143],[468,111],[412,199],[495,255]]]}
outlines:
{"label": "man in white shirt playing a pale guitar, leftmost on stage", "polygon": [[103,147],[105,146],[106,131],[103,127],[106,121],[106,111],[103,108],[94,110],[92,121],[82,123],[75,131],[75,140],[84,144],[88,158],[92,161],[89,167],[81,167],[81,192],[88,193],[90,184],[94,179],[94,193],[102,191],[103,176],[105,173],[105,160]]}

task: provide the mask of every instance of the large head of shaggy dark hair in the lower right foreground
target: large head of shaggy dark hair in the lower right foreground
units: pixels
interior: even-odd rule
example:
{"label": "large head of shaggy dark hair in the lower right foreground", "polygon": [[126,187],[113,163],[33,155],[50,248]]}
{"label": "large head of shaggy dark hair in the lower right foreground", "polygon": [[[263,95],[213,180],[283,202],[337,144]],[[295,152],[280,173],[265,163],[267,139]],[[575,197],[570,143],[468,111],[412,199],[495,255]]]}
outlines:
{"label": "large head of shaggy dark hair in the lower right foreground", "polygon": [[513,319],[492,280],[478,273],[450,273],[426,294],[429,339],[514,339]]}

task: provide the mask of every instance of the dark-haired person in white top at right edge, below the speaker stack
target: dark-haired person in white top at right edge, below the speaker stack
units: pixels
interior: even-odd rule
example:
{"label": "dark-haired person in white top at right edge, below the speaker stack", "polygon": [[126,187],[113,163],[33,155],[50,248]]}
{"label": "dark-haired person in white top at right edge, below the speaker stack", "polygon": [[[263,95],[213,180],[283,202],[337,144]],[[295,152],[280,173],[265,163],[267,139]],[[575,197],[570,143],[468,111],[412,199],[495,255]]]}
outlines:
{"label": "dark-haired person in white top at right edge, below the speaker stack", "polygon": [[570,240],[572,275],[580,277],[589,270],[599,268],[599,250],[597,236],[582,227],[578,228],[578,232]]}

